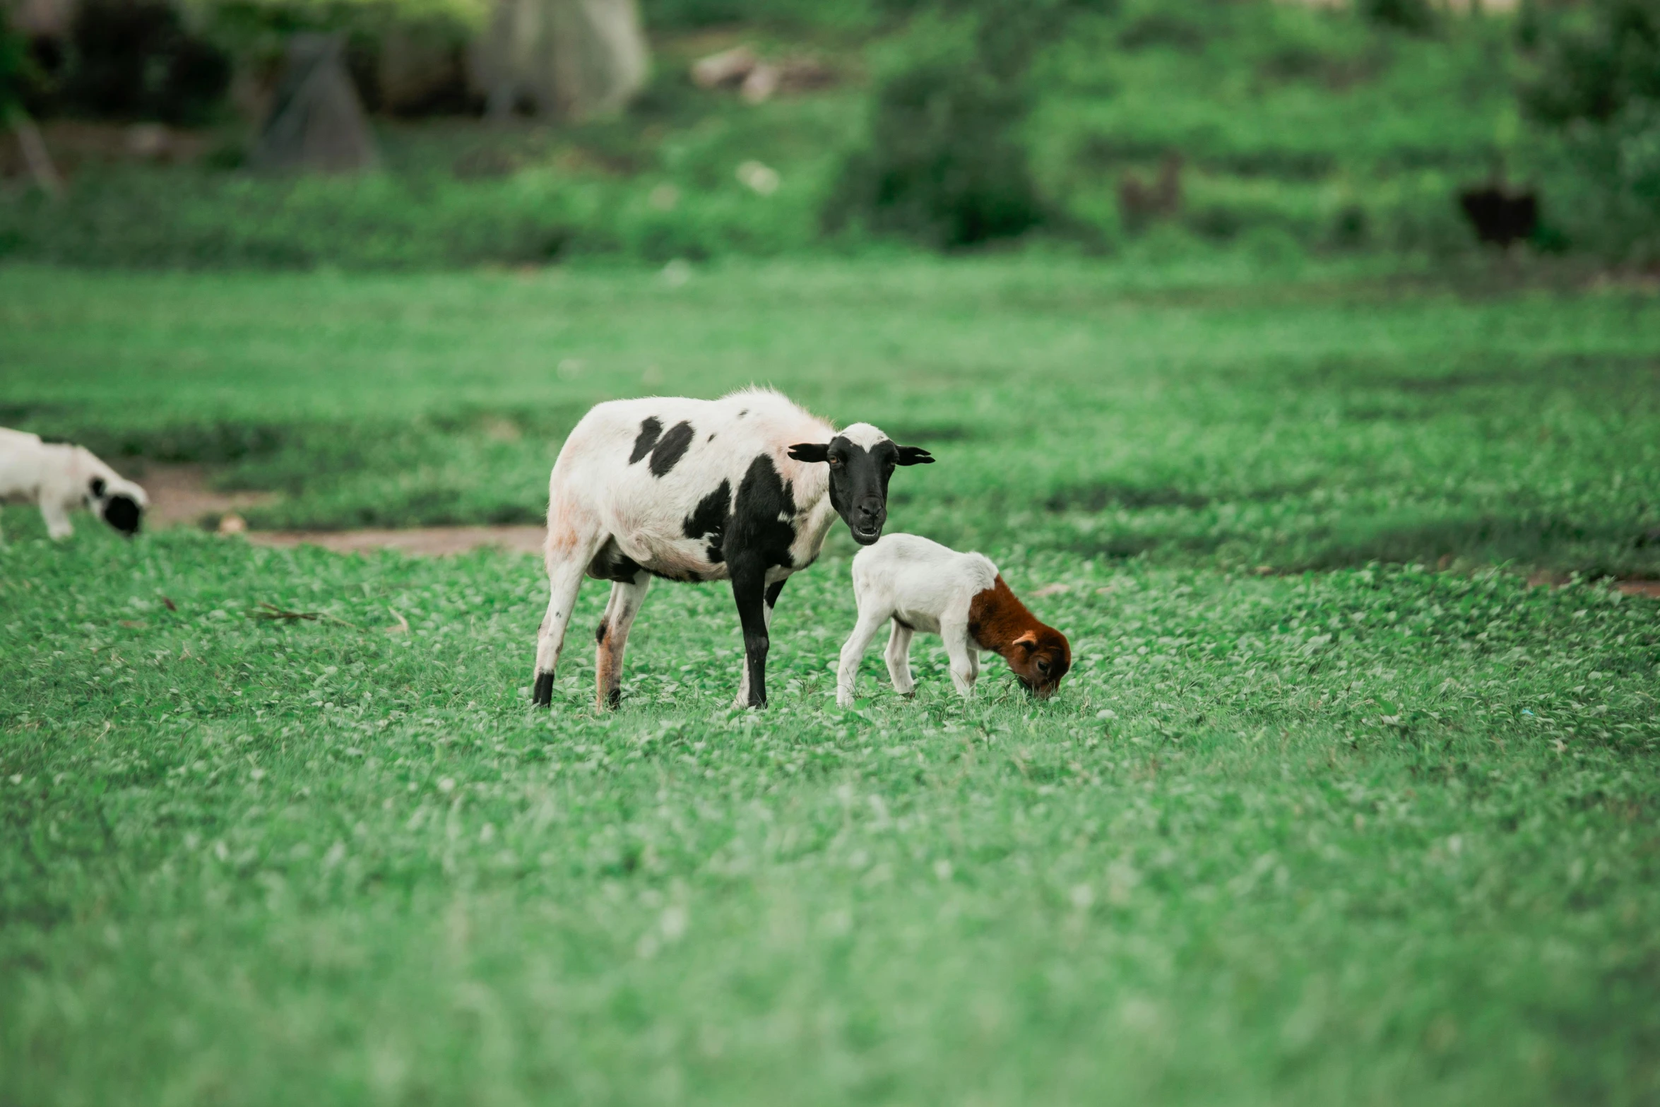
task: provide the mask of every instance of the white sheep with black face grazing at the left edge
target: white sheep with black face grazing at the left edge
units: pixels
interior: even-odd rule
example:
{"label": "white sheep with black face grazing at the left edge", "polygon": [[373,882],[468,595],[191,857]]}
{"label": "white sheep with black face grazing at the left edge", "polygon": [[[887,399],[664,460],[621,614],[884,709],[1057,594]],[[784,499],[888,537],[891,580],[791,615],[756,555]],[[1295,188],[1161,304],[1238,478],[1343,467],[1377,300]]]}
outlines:
{"label": "white sheep with black face grazing at the left edge", "polygon": [[38,503],[51,538],[75,533],[70,511],[81,503],[131,538],[149,506],[143,488],[100,461],[91,450],[5,428],[0,428],[0,500]]}

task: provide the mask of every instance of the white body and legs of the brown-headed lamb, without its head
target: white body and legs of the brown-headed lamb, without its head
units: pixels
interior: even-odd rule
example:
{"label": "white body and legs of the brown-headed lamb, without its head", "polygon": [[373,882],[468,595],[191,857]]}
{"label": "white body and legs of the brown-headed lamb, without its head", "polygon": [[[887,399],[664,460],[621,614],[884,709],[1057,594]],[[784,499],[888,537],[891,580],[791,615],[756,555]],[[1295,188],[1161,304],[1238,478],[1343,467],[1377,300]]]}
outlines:
{"label": "white body and legs of the brown-headed lamb, without its head", "polygon": [[998,566],[978,553],[958,553],[916,534],[886,534],[853,558],[853,597],[858,624],[842,647],[837,669],[837,704],[853,702],[858,661],[883,622],[893,621],[888,636],[888,675],[893,689],[910,695],[911,634],[926,631],[945,641],[951,659],[951,682],[968,697],[979,679],[979,644],[968,631],[968,609],[974,596],[998,579]]}

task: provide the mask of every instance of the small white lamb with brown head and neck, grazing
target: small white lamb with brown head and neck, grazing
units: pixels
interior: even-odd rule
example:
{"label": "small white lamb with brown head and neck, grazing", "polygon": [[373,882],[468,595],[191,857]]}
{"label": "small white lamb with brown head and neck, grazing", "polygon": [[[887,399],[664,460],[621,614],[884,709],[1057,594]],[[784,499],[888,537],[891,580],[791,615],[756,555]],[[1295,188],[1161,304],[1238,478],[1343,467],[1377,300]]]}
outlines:
{"label": "small white lamb with brown head and neck, grazing", "polygon": [[888,675],[900,695],[916,689],[910,664],[916,631],[945,639],[951,682],[964,697],[974,694],[983,649],[1003,654],[1038,699],[1049,699],[1072,667],[1066,636],[1026,611],[984,554],[956,553],[916,534],[888,534],[853,558],[853,596],[858,624],[842,647],[835,680],[842,707],[853,704],[858,659],[888,619]]}

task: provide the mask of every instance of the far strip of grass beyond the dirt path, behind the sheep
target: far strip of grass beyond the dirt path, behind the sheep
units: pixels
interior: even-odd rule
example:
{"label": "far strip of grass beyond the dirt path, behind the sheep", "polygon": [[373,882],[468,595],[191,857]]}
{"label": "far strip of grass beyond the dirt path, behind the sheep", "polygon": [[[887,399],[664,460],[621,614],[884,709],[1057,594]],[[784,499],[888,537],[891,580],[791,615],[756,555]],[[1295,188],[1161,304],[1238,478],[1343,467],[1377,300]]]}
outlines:
{"label": "far strip of grass beyond the dirt path, behind the sheep", "polygon": [[591,403],[759,382],[933,448],[896,518],[959,546],[1660,576],[1657,365],[1643,284],[1248,246],[669,274],[0,269],[0,423],[284,493],[256,526],[536,523]]}

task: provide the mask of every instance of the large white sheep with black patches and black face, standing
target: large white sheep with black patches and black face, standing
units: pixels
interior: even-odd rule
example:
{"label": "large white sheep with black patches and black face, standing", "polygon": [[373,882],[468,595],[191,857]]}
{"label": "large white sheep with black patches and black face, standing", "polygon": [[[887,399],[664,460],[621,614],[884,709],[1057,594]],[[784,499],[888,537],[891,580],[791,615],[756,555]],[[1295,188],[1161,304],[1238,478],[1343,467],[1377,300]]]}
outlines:
{"label": "large white sheep with black patches and black face, standing", "polygon": [[719,400],[652,397],[594,407],[548,481],[548,614],[533,702],[553,672],[583,576],[611,581],[596,639],[598,702],[621,699],[622,651],[652,576],[732,581],[744,627],[740,707],[767,704],[767,626],[784,581],[842,516],[862,546],[881,538],[896,465],[928,465],[870,423],[837,432],[765,388]]}

